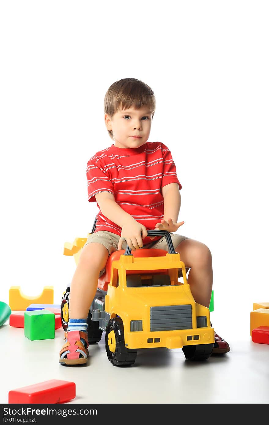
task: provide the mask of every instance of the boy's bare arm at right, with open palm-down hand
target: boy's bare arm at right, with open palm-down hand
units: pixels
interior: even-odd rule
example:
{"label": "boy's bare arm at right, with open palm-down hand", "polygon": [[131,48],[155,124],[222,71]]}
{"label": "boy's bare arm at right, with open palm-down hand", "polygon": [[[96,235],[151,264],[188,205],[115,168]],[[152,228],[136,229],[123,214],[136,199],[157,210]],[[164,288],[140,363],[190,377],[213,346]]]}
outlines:
{"label": "boy's bare arm at right, with open palm-down hand", "polygon": [[168,230],[168,232],[176,232],[178,227],[184,224],[184,221],[177,223],[181,206],[178,183],[166,184],[161,188],[161,194],[164,198],[164,218],[161,220],[161,223],[156,224],[155,228]]}

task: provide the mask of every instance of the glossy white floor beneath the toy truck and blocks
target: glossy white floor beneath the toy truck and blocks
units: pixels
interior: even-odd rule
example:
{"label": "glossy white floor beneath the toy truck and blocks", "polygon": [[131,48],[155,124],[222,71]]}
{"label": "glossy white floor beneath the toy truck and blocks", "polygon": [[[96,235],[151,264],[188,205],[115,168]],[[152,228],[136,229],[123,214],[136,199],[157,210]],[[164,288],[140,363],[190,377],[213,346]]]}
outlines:
{"label": "glossy white floor beneath the toy truck and blocks", "polygon": [[140,350],[133,366],[117,368],[107,358],[104,333],[90,346],[88,365],[67,367],[58,363],[62,329],[54,340],[30,341],[24,329],[6,322],[0,328],[0,403],[8,402],[11,389],[50,379],[76,383],[70,403],[268,403],[269,345],[252,343],[246,324],[241,334],[221,325],[216,331],[231,346],[223,357],[192,363],[181,349],[151,348]]}

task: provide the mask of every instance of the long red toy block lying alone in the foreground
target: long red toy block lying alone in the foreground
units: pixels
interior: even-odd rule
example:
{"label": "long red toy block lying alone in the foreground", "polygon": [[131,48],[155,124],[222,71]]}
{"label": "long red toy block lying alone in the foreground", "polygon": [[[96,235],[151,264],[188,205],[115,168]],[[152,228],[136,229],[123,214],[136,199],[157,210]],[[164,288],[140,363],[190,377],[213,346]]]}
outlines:
{"label": "long red toy block lying alone in the foreground", "polygon": [[67,402],[75,397],[76,384],[74,382],[52,379],[9,391],[8,403],[55,404]]}

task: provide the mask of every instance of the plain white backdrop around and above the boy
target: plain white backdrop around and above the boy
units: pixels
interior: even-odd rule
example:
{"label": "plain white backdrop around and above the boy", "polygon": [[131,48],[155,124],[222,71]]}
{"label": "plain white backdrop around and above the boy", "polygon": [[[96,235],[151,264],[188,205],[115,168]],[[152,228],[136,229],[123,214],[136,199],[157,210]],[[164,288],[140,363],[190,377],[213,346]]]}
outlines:
{"label": "plain white backdrop around and above the boy", "polygon": [[149,141],[173,154],[180,232],[212,252],[218,323],[249,332],[252,303],[269,301],[268,12],[266,1],[1,2],[0,300],[13,285],[53,286],[60,303],[75,270],[64,243],[97,213],[86,164],[112,143],[104,96],[133,77],[156,96]]}

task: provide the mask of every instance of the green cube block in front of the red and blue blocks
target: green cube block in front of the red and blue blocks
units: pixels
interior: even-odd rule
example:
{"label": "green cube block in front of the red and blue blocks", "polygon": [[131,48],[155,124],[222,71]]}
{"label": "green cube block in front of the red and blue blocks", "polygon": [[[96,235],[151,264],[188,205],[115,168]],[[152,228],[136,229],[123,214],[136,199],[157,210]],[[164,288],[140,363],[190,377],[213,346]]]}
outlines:
{"label": "green cube block in front of the red and blue blocks", "polygon": [[51,340],[55,337],[55,314],[48,310],[24,313],[24,334],[29,340]]}

